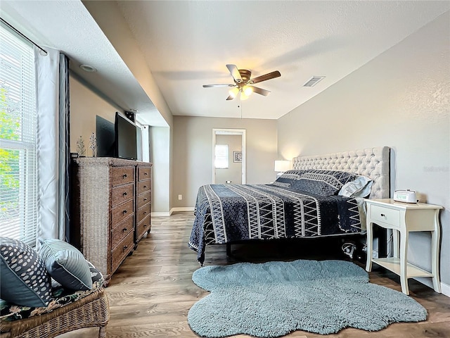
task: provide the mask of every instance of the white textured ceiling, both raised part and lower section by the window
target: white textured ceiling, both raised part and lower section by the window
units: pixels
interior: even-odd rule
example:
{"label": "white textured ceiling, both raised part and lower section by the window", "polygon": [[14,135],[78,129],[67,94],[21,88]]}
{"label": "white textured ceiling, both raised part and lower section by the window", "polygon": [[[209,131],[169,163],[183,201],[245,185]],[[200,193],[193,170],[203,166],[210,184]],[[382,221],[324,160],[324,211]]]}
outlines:
{"label": "white textured ceiling, both raised part and lower section by the window", "polygon": [[[99,4],[122,11],[173,115],[232,118],[279,118],[450,9],[450,1]],[[110,43],[113,37],[96,23],[108,11],[89,13],[81,1],[1,0],[0,6],[2,18],[39,44],[68,54],[72,72],[108,101],[124,110],[138,108],[150,124],[165,125],[145,86]],[[98,73],[81,72],[81,63]],[[226,101],[226,87],[202,85],[233,83],[227,63],[251,70],[252,77],[274,70],[281,77],[257,84],[269,96]],[[326,78],[302,87],[313,75]]]}

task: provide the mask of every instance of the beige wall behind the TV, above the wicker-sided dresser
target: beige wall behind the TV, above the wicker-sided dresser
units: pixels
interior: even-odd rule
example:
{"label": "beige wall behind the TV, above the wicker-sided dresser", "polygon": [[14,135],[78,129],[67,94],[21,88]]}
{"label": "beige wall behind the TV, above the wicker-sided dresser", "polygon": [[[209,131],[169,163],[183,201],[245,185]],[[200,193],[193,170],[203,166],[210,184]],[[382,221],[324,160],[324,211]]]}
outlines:
{"label": "beige wall behind the TV, above the wicker-sided dresser", "polygon": [[70,76],[70,152],[77,153],[77,141],[81,136],[86,156],[92,156],[89,137],[96,132],[96,115],[114,123],[118,109]]}

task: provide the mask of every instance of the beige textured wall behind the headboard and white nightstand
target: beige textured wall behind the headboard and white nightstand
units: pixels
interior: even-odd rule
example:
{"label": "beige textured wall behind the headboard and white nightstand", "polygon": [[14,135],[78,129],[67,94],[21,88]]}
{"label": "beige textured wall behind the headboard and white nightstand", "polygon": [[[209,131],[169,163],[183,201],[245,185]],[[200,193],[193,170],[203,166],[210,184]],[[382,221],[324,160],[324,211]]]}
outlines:
{"label": "beige textured wall behind the headboard and white nightstand", "polygon": [[[449,27],[446,13],[278,120],[278,153],[286,158],[391,146],[391,190],[413,189],[445,208],[440,218],[441,277],[447,285]],[[411,261],[430,268],[428,234],[411,234],[410,239]]]}

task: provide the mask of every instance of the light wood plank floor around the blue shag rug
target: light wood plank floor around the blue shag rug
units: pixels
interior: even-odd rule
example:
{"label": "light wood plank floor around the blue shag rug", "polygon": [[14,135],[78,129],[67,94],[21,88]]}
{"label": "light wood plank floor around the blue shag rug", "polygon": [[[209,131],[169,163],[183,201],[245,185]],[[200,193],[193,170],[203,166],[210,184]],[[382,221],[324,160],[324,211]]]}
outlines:
{"label": "light wood plank floor around the blue shag rug", "polygon": [[[152,231],[143,238],[136,251],[129,256],[113,275],[110,286],[106,289],[110,301],[110,323],[107,327],[108,338],[138,337],[198,337],[187,323],[189,308],[208,294],[197,287],[191,280],[193,271],[200,265],[194,251],[187,242],[193,223],[192,213],[176,213],[169,218],[152,218]],[[316,241],[316,239],[307,239]],[[245,257],[248,261],[268,261],[281,259],[322,259],[314,247],[320,242],[311,242],[307,249],[289,248],[285,244],[275,248],[281,253],[274,255],[272,244],[259,246],[233,247],[235,256]],[[274,244],[276,245],[276,244]],[[326,244],[328,247],[329,245]],[[330,259],[345,259],[338,250],[331,253]],[[225,247],[208,246],[205,265],[235,263],[227,258]],[[401,291],[399,278],[383,270],[370,274],[371,282]],[[366,332],[348,328],[338,334],[323,336],[309,332],[297,331],[286,335],[290,338],[423,338],[450,337],[450,298],[437,294],[414,280],[409,281],[411,296],[428,310],[428,320],[421,323],[395,323],[385,330]],[[97,337],[98,329],[82,329],[69,332],[61,338]],[[240,334],[233,337],[250,337]]]}

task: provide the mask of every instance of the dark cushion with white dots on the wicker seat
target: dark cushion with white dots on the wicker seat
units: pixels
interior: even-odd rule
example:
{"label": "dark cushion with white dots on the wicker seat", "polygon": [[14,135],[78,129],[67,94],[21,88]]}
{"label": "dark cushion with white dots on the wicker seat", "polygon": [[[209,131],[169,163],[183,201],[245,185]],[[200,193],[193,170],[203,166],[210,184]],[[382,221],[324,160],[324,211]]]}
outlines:
{"label": "dark cushion with white dots on the wicker seat", "polygon": [[1,299],[23,306],[46,306],[51,299],[50,275],[31,246],[0,237]]}

